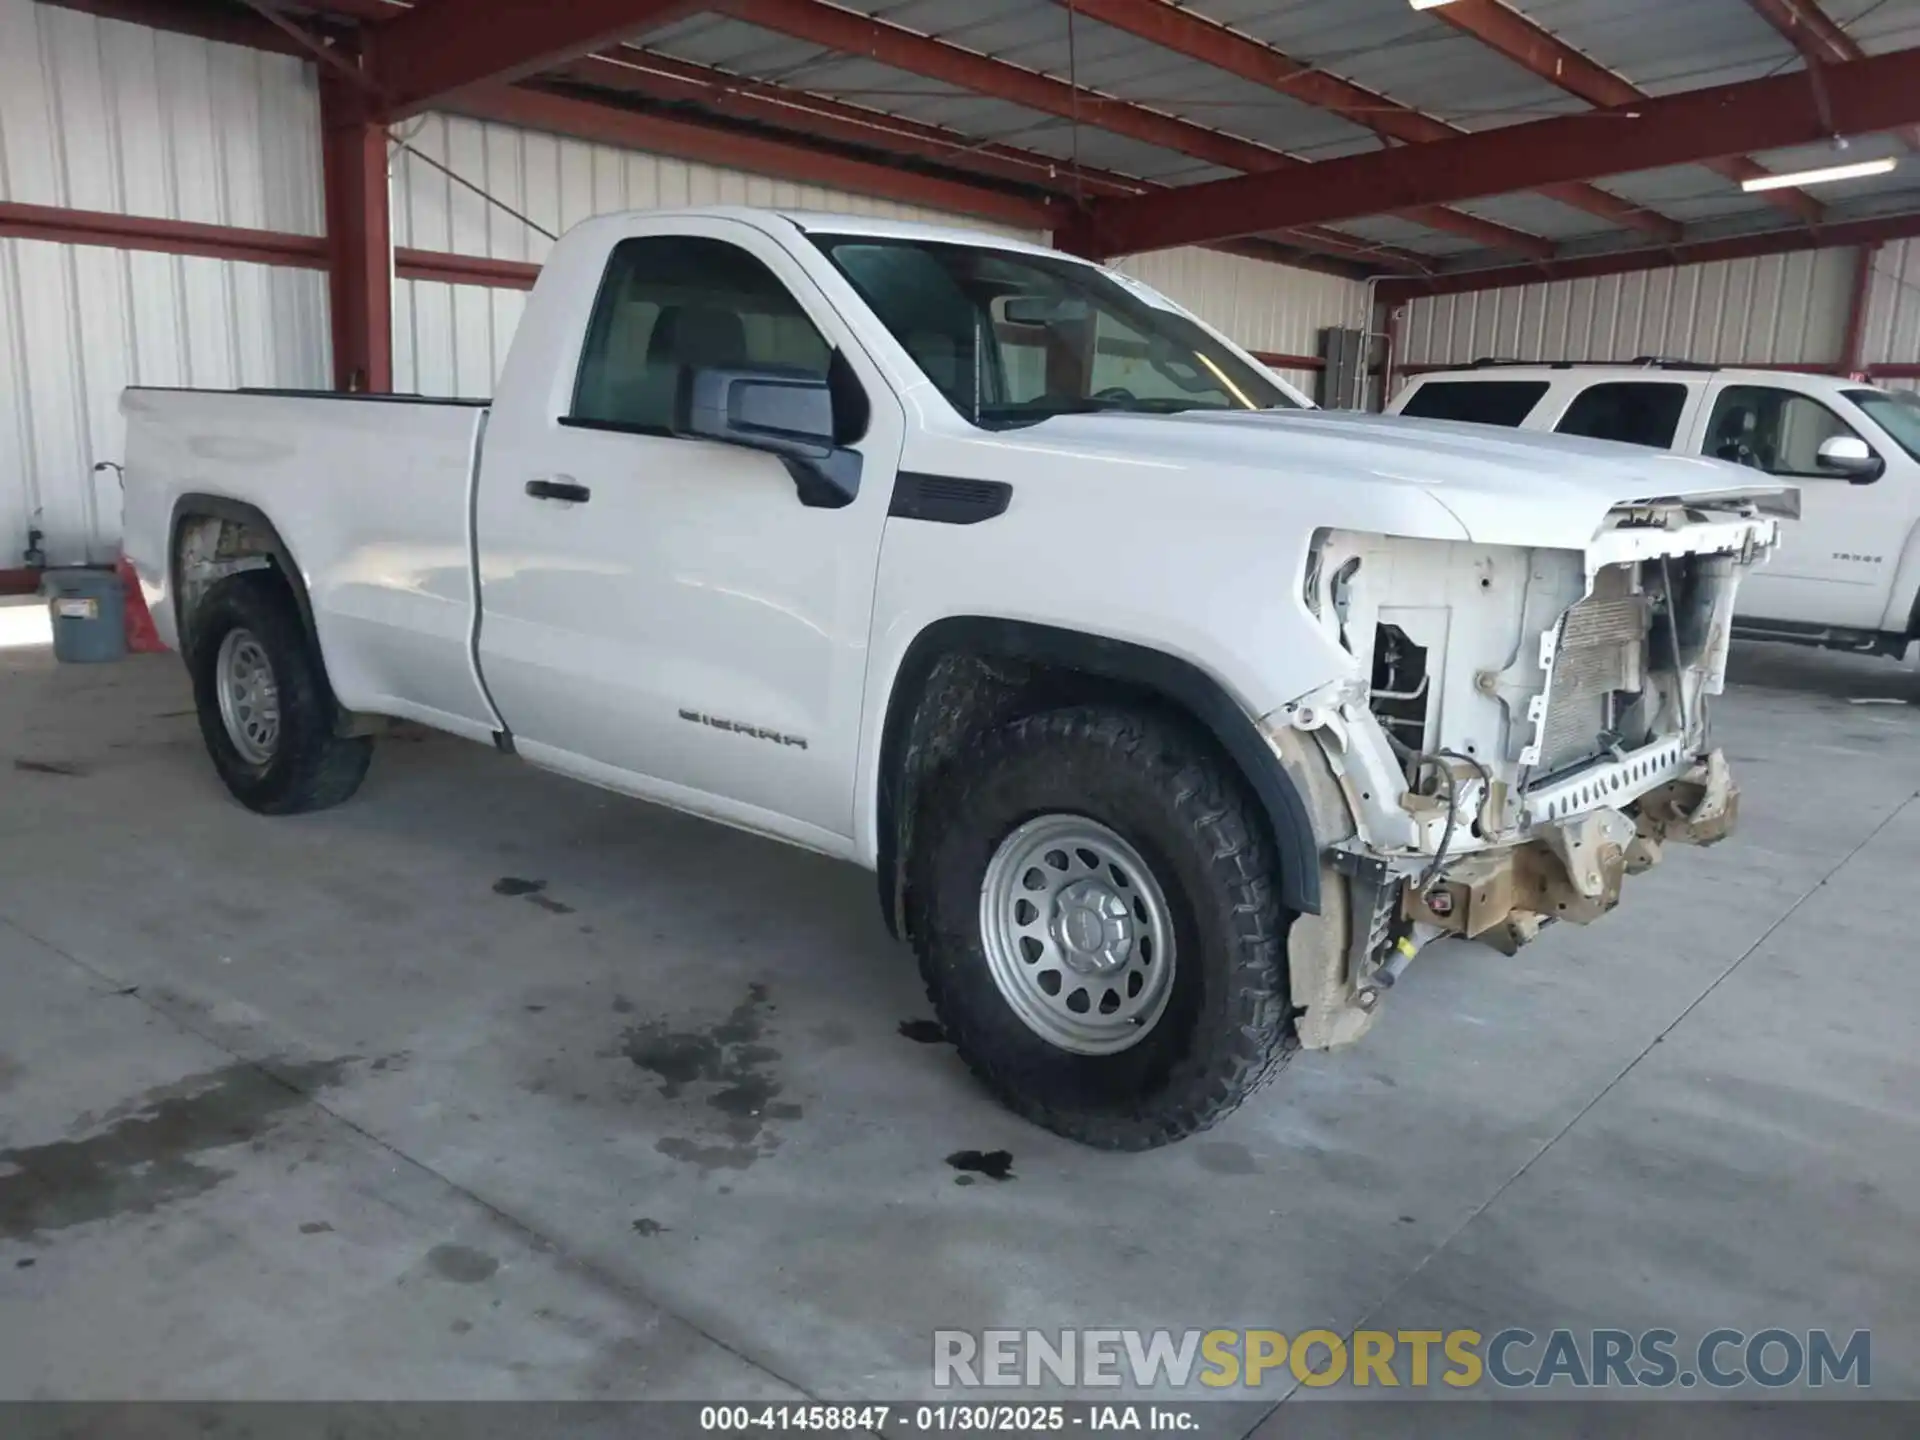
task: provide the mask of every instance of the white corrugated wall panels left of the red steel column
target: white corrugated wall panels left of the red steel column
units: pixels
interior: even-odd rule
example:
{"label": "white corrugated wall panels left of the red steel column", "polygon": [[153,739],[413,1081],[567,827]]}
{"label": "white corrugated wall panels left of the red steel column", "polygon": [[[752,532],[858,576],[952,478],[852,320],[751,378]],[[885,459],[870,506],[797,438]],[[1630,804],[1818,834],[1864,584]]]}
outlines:
{"label": "white corrugated wall panels left of the red steel column", "polygon": [[[313,69],[0,0],[0,200],[321,234]],[[0,568],[111,553],[125,384],[324,384],[319,273],[0,240]]]}

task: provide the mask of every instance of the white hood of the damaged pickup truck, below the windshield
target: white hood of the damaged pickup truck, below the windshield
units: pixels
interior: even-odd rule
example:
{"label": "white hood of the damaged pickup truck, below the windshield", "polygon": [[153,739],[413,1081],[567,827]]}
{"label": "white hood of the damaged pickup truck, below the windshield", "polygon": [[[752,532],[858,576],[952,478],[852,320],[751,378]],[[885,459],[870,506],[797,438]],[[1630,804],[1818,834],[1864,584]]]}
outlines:
{"label": "white hood of the damaged pickup truck, below the windshield", "polygon": [[[1229,472],[1344,490],[1415,490],[1482,545],[1582,549],[1619,505],[1655,499],[1751,501],[1797,515],[1791,486],[1711,459],[1580,436],[1354,411],[1187,411],[1062,415],[1004,440],[1077,457],[1106,453],[1217,484]],[[1215,480],[1219,476],[1221,480]],[[1340,524],[1338,515],[1327,516]]]}

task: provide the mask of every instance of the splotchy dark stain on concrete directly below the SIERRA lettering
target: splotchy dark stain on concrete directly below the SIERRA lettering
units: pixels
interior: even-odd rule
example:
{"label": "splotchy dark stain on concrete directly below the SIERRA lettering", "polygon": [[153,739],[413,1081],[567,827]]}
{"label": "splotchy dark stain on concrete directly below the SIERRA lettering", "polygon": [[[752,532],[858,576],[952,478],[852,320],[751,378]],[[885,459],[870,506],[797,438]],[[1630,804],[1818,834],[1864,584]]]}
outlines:
{"label": "splotchy dark stain on concrete directly below the SIERRA lettering", "polygon": [[655,1150],[710,1173],[747,1169],[780,1148],[768,1121],[799,1119],[801,1108],[778,1100],[781,1083],[770,1066],[780,1050],[764,1043],[766,1010],[766,985],[755,983],[726,1020],[707,1029],[676,1031],[647,1021],[626,1031],[620,1052],[655,1077],[660,1098],[680,1100],[699,1089],[714,1112],[705,1127],[714,1135],[670,1135]]}

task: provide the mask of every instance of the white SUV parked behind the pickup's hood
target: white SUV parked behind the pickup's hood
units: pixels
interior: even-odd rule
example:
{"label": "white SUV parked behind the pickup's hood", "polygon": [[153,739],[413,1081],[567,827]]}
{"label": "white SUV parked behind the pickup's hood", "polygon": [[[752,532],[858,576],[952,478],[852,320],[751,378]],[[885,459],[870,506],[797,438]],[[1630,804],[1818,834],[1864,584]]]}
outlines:
{"label": "white SUV parked behind the pickup's hood", "polygon": [[1920,397],[1832,374],[1686,361],[1480,361],[1392,415],[1620,440],[1791,480],[1801,518],[1740,588],[1736,634],[1905,655],[1920,639]]}

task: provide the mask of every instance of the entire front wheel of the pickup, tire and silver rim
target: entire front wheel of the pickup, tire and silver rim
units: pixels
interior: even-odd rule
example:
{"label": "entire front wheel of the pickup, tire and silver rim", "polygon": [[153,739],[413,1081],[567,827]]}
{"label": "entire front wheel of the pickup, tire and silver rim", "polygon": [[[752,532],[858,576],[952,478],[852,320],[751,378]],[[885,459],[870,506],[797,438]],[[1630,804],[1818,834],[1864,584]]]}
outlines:
{"label": "entire front wheel of the pickup, tire and silver rim", "polygon": [[1290,1054],[1269,845],[1181,724],[1018,720],[943,766],[914,828],[927,995],[1008,1108],[1146,1150],[1208,1129]]}

